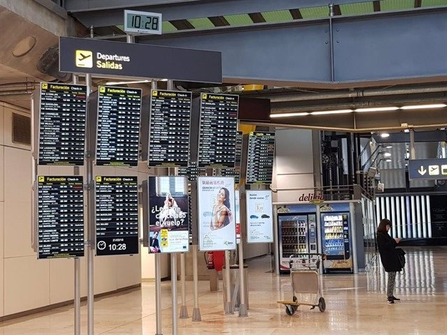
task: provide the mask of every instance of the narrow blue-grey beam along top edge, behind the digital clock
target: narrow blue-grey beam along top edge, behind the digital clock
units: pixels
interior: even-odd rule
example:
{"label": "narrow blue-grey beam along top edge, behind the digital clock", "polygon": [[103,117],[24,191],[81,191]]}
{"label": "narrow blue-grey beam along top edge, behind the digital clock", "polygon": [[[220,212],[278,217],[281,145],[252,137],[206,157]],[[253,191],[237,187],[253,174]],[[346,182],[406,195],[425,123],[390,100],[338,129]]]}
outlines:
{"label": "narrow blue-grey beam along top edge, behind the digital clock", "polygon": [[370,0],[66,0],[66,10],[86,27],[124,23],[124,9],[162,13],[163,20],[187,20],[274,10],[329,6]]}

